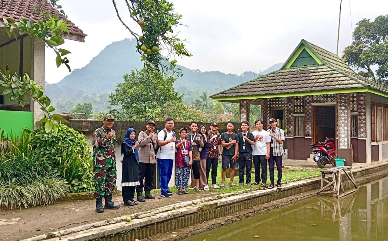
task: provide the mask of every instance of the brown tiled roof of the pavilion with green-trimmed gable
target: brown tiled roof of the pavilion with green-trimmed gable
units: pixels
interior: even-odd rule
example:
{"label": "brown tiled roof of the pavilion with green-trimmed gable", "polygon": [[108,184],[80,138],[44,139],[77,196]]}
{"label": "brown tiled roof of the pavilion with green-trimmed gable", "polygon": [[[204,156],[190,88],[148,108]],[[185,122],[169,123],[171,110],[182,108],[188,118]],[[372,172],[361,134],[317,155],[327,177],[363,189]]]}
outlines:
{"label": "brown tiled roof of the pavilion with green-trimmed gable", "polygon": [[[289,67],[298,49],[307,49],[317,59],[314,65]],[[300,50],[301,51],[301,50]],[[313,57],[312,57],[313,58]],[[319,64],[320,63],[320,64]],[[355,73],[346,63],[325,49],[301,40],[280,70],[210,96],[213,100],[271,98],[325,91],[371,88],[388,94],[388,89]]]}

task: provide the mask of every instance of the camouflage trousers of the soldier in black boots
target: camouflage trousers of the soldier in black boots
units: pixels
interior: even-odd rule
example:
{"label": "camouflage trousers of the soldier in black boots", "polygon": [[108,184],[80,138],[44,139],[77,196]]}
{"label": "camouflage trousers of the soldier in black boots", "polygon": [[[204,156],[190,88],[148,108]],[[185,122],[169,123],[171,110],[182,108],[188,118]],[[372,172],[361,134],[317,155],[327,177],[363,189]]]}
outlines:
{"label": "camouflage trousers of the soldier in black boots", "polygon": [[113,194],[114,185],[116,183],[116,167],[104,167],[94,165],[94,185],[96,191],[94,197],[99,198]]}

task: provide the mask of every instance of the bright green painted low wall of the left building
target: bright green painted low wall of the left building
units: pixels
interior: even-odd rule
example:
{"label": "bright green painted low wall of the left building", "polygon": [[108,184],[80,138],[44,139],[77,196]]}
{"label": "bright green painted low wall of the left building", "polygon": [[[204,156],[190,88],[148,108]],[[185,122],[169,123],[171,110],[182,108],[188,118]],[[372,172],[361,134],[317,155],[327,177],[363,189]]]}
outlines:
{"label": "bright green painted low wall of the left building", "polygon": [[10,133],[21,134],[21,129],[34,128],[34,113],[29,111],[0,110],[0,131],[4,130],[4,137]]}

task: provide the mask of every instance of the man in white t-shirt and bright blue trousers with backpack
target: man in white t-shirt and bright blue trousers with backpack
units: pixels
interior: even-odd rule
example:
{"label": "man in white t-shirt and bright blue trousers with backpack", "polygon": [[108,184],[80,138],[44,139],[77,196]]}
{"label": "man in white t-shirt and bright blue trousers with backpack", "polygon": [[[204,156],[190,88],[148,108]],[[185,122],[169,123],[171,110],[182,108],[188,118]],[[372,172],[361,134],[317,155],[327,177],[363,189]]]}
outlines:
{"label": "man in white t-shirt and bright blue trousers with backpack", "polygon": [[160,177],[161,197],[171,197],[172,192],[168,190],[168,183],[172,175],[172,167],[175,158],[175,140],[177,140],[174,128],[174,120],[167,118],[165,121],[165,129],[158,133],[159,150],[156,153],[158,160],[158,169]]}

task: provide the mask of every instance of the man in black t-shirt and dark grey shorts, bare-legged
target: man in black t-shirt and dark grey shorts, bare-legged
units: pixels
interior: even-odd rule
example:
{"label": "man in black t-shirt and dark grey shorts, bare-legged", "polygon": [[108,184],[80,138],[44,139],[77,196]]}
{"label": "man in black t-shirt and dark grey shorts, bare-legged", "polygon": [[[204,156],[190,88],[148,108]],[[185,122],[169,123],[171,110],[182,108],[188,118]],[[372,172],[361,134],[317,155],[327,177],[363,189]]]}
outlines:
{"label": "man in black t-shirt and dark grey shorts, bare-legged", "polygon": [[239,151],[239,140],[236,133],[233,133],[234,123],[229,121],[226,124],[227,132],[221,134],[222,145],[222,184],[220,188],[225,188],[226,169],[230,166],[230,187],[235,187],[233,183],[234,168],[237,168],[237,154]]}

